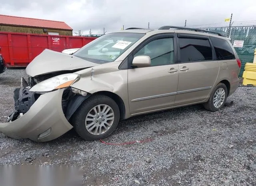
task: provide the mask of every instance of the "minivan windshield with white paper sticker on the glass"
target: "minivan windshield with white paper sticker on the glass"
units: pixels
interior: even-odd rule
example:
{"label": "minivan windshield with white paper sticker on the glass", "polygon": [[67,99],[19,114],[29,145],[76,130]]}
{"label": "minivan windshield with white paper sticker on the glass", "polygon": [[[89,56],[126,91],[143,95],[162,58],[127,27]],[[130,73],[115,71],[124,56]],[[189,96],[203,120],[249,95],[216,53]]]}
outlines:
{"label": "minivan windshield with white paper sticker on the glass", "polygon": [[73,55],[93,63],[112,62],[144,35],[140,33],[106,34],[82,47]]}

